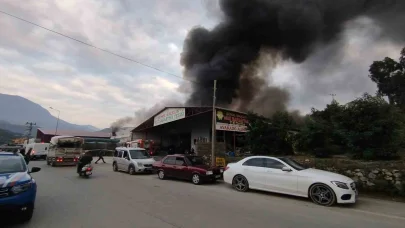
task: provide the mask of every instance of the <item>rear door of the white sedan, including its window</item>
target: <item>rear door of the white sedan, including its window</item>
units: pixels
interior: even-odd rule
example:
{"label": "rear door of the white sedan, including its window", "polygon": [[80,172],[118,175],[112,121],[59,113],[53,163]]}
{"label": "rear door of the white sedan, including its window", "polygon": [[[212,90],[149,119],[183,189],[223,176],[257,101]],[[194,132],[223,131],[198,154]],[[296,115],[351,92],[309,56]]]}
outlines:
{"label": "rear door of the white sedan, including its window", "polygon": [[249,182],[249,187],[265,190],[267,182],[267,168],[263,158],[251,158],[242,164],[243,175]]}

